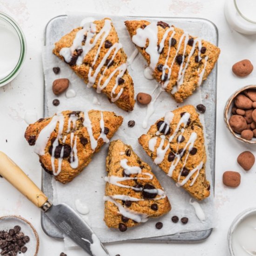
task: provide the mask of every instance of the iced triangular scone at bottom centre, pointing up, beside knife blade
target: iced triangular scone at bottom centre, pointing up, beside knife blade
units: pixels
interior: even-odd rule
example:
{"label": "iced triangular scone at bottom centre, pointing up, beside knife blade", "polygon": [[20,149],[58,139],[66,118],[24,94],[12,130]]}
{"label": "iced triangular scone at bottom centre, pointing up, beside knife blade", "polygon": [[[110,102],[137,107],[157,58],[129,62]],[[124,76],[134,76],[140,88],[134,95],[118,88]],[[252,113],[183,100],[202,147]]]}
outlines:
{"label": "iced triangular scone at bottom centre, pointing up, beside knife blade", "polygon": [[112,141],[106,159],[105,217],[109,228],[126,231],[171,206],[151,168],[121,140]]}

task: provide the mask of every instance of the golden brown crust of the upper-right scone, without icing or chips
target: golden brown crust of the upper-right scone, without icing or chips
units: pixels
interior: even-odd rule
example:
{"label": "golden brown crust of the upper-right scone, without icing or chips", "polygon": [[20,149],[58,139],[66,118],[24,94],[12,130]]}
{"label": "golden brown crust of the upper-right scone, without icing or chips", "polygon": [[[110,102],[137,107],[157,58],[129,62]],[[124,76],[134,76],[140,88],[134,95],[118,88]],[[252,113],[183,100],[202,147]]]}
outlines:
{"label": "golden brown crust of the upper-right scone, without icing or chips", "polygon": [[[129,32],[131,38],[136,34],[136,30],[138,28],[143,28],[144,26],[148,26],[149,24],[150,24],[150,22],[148,22],[146,20],[128,20],[128,21],[125,21],[125,25],[128,29],[128,32]],[[168,58],[168,62],[167,62],[169,67],[171,67],[171,63],[173,62],[173,60],[175,58],[178,42],[181,39],[182,34],[184,34],[184,31],[182,29],[174,27],[174,26],[171,26],[171,27],[173,27],[174,31],[175,31],[175,34],[174,34],[173,38],[176,40],[176,44],[170,48],[169,58]],[[163,35],[166,32],[166,30],[168,29],[168,27],[164,28],[162,26],[157,26],[157,28],[158,28],[158,35],[157,36],[158,36],[158,45],[159,45],[159,43],[162,40]],[[171,34],[172,34],[172,31],[170,31],[168,33],[168,36],[167,36],[167,38],[164,42],[163,52],[160,54],[158,63],[157,63],[157,65],[155,67],[155,70],[153,72],[153,76],[155,77],[156,81],[158,81],[160,83],[163,83],[163,81],[161,79],[162,71],[159,71],[157,69],[157,66],[160,65],[160,64],[162,64],[162,65],[165,64],[165,60],[168,56],[168,42],[169,42],[169,38],[170,38]],[[192,36],[189,36],[189,38],[192,38]],[[194,40],[196,39],[196,37],[193,37],[193,38],[194,38]],[[182,44],[181,44],[181,47],[179,49],[178,54],[183,54],[184,41],[185,41],[185,38],[182,40]],[[148,46],[148,43],[146,44],[146,47],[147,46]],[[146,52],[146,47],[142,47],[142,48],[137,47],[137,48],[140,51],[140,53],[143,55],[145,60],[148,62],[148,65],[149,65],[150,64],[150,56]],[[170,76],[170,80],[168,81],[168,84],[167,84],[167,87],[165,88],[165,91],[168,92],[168,94],[171,94],[174,97],[175,101],[177,101],[177,102],[182,102],[184,99],[186,99],[191,94],[193,94],[195,89],[198,87],[199,74],[202,73],[205,62],[206,62],[205,57],[208,56],[208,61],[206,62],[205,72],[203,73],[202,81],[207,79],[208,75],[210,74],[210,72],[212,71],[212,69],[215,66],[215,63],[218,60],[218,57],[219,57],[219,54],[220,54],[220,49],[218,47],[216,47],[215,45],[213,45],[213,44],[211,44],[211,43],[209,43],[208,41],[205,41],[205,40],[202,40],[202,47],[206,47],[206,52],[203,53],[203,54],[202,53],[200,54],[200,56],[202,58],[202,61],[199,61],[197,63],[197,62],[195,62],[195,57],[198,55],[198,42],[196,43],[195,52],[189,60],[189,65],[186,69],[183,83],[180,85],[178,91],[176,91],[175,93],[172,92],[172,89],[176,85],[180,65],[176,61],[174,61],[171,76]],[[184,61],[183,67],[185,66],[185,63],[188,60],[188,56],[189,56],[189,53],[190,53],[191,49],[192,49],[192,46],[187,45],[186,54],[185,54],[185,61]]]}

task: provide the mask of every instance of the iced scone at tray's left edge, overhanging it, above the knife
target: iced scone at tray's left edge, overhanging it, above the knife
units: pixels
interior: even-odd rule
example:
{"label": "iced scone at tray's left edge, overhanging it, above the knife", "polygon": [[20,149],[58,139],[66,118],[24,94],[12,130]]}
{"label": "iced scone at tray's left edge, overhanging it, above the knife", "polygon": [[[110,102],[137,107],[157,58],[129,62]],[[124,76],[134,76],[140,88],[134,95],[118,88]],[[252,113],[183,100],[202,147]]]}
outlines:
{"label": "iced scone at tray's left edge, overhanging it, above the knife", "polygon": [[74,179],[115,134],[123,118],[114,112],[63,111],[30,124],[25,132],[40,163],[61,183]]}

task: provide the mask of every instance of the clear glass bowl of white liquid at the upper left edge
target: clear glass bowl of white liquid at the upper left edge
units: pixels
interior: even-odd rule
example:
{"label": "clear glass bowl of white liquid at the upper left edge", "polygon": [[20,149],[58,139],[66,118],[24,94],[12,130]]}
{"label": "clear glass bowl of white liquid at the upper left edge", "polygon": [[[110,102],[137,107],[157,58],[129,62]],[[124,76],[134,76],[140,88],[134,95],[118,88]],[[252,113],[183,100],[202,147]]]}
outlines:
{"label": "clear glass bowl of white liquid at the upper left edge", "polygon": [[0,12],[0,86],[19,74],[27,53],[25,36],[15,20]]}

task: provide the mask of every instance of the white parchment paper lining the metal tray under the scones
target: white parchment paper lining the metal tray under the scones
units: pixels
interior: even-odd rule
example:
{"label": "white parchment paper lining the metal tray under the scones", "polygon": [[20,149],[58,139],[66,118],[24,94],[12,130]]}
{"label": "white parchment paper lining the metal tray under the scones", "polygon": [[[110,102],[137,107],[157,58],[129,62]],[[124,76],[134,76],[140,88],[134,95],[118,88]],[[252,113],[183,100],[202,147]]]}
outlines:
{"label": "white parchment paper lining the metal tray under the scones", "polygon": [[[53,35],[58,39],[62,35],[68,33],[74,27],[78,27],[83,18],[93,16],[95,19],[102,19],[104,17],[112,18],[114,26],[120,38],[120,42],[123,44],[123,48],[126,54],[129,56],[135,49],[135,46],[130,40],[126,27],[124,26],[124,21],[127,20],[126,17],[111,17],[104,15],[92,15],[92,14],[69,14],[67,20],[63,22],[60,26],[60,32],[58,35]],[[150,20],[150,19],[148,19]],[[158,19],[159,20],[159,19]],[[164,20],[168,21],[168,20]],[[171,22],[170,22],[171,23]],[[208,39],[207,31],[205,31],[202,25],[197,25],[196,23],[191,26],[190,22],[177,22],[174,24],[176,27],[182,27],[184,30],[188,31],[190,34],[201,36],[202,38]],[[59,36],[59,37],[58,37]],[[209,198],[200,202],[200,205],[206,215],[206,221],[204,223],[195,216],[195,211],[193,206],[189,204],[189,199],[191,196],[184,191],[182,188],[177,188],[175,182],[173,182],[168,176],[156,166],[151,158],[144,152],[140,144],[138,143],[138,138],[143,133],[147,133],[149,126],[162,116],[168,110],[173,110],[185,104],[192,104],[196,106],[201,103],[201,93],[197,90],[195,94],[190,96],[184,103],[176,103],[170,95],[163,92],[155,103],[155,113],[149,119],[149,125],[147,129],[142,128],[142,121],[146,115],[146,107],[135,104],[134,111],[125,112],[120,108],[117,108],[115,104],[109,103],[107,97],[103,94],[97,94],[93,88],[87,88],[86,84],[74,74],[74,72],[68,67],[66,63],[58,59],[54,54],[52,54],[53,45],[48,45],[44,47],[43,51],[43,66],[45,73],[46,82],[46,98],[47,98],[47,109],[48,115],[54,115],[56,111],[62,110],[90,110],[99,109],[114,111],[118,115],[124,117],[123,124],[116,132],[112,140],[121,139],[127,144],[130,144],[135,153],[141,157],[141,159],[151,165],[154,174],[157,176],[161,182],[163,188],[167,192],[168,198],[171,202],[172,210],[165,216],[157,219],[150,219],[146,223],[130,228],[126,232],[121,233],[116,229],[109,229],[105,222],[104,217],[104,189],[105,181],[104,176],[106,175],[105,170],[105,158],[108,153],[108,144],[105,144],[99,153],[94,155],[92,162],[87,168],[72,182],[68,184],[61,184],[55,182],[53,179],[52,185],[54,188],[54,204],[65,202],[75,209],[74,201],[78,198],[82,199],[88,205],[90,212],[88,214],[89,222],[91,224],[94,232],[99,236],[101,241],[104,242],[114,242],[128,239],[138,239],[142,237],[154,237],[154,236],[164,236],[171,235],[175,233],[205,230],[214,227],[214,197],[213,191],[211,190],[211,195]],[[60,67],[60,74],[56,75],[53,73],[53,67]],[[134,63],[128,67],[128,71],[131,74],[134,86],[135,95],[139,92],[145,92],[151,94],[157,84],[155,80],[147,80],[143,76],[143,70],[147,66],[146,61],[139,54],[135,59]],[[69,88],[76,91],[76,97],[69,98],[64,94],[61,94],[57,98],[60,100],[61,104],[58,107],[54,107],[52,101],[56,96],[52,92],[52,83],[57,78],[68,78],[70,80]],[[209,80],[210,81],[210,80]],[[209,81],[206,81],[208,83]],[[93,98],[97,97],[101,102],[101,105],[94,105]],[[200,116],[202,123],[203,115]],[[135,127],[129,128],[128,121],[134,120]],[[212,183],[211,170],[209,167],[209,162],[206,165],[207,178]],[[188,217],[188,224],[184,225],[181,222],[173,223],[171,221],[172,216],[178,216],[179,218]],[[155,223],[161,221],[163,223],[163,228],[158,230],[155,228]],[[67,241],[65,239],[65,241]],[[71,243],[67,243],[71,245]]]}

